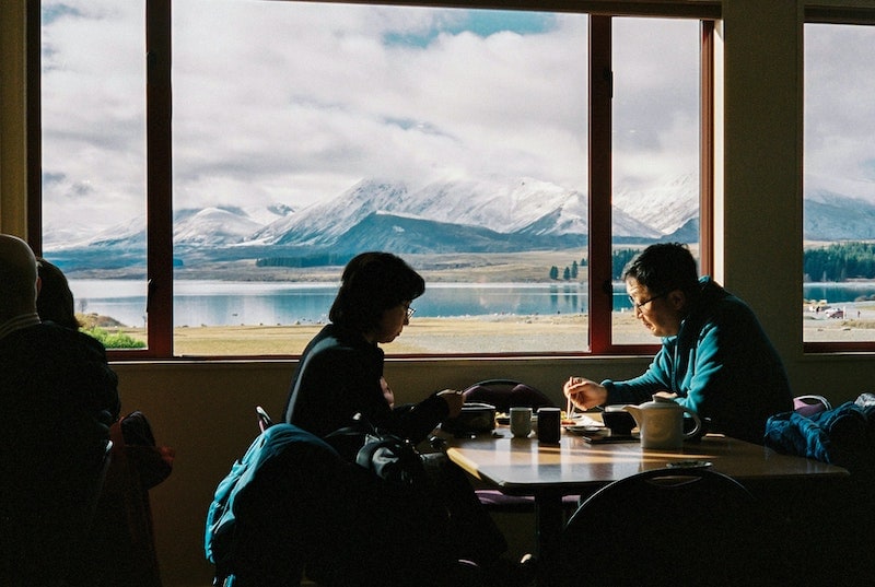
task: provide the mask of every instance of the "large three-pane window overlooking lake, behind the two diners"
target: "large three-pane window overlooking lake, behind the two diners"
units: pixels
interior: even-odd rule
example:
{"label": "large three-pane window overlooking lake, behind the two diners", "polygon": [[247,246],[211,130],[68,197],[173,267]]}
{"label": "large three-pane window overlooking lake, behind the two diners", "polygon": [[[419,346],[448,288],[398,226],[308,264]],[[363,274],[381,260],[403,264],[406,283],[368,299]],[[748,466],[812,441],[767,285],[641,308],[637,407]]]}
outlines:
{"label": "large three-pane window overlooking lake, behind the two diners", "polygon": [[44,0],[42,35],[44,254],[131,355],[300,353],[371,249],[428,282],[390,353],[622,352],[622,261],[698,250],[696,19]]}

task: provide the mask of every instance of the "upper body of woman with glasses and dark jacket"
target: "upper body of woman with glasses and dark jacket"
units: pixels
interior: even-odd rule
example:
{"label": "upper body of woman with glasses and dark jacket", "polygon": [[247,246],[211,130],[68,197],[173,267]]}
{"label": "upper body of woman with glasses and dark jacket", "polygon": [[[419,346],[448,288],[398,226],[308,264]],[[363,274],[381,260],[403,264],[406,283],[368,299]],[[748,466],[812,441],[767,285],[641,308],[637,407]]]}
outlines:
{"label": "upper body of woman with glasses and dark jacket", "polygon": [[425,282],[388,253],[363,253],[343,270],[327,325],[301,356],[285,404],[285,422],[317,436],[352,423],[355,414],[415,443],[458,415],[463,397],[444,389],[413,407],[395,407],[383,378],[383,350],[409,324],[410,303]]}

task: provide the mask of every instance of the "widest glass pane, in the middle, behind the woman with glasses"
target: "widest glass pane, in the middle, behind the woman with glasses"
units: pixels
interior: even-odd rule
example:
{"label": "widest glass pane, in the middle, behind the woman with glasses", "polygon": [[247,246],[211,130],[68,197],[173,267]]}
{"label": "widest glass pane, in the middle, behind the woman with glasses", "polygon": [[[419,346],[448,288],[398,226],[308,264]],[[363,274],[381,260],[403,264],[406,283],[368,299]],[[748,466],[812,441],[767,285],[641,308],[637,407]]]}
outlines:
{"label": "widest glass pane, in the middle, behind the woman with glasses", "polygon": [[372,249],[428,284],[389,353],[586,350],[586,16],[173,9],[177,353],[300,353]]}

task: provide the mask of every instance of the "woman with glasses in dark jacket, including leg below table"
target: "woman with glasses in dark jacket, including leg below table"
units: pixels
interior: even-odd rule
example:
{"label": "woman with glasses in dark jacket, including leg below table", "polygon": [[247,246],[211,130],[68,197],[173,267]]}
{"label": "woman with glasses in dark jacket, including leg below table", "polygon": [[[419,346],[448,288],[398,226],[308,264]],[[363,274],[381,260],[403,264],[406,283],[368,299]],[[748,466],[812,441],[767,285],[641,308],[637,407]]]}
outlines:
{"label": "woman with glasses in dark jacket, including leg below table", "polygon": [[[357,416],[415,444],[462,411],[462,394],[444,389],[413,406],[395,406],[383,377],[378,344],[395,340],[413,314],[410,303],[425,291],[423,279],[389,253],[363,253],[345,268],[328,324],[310,342],[292,379],[285,422],[325,437],[353,425]],[[488,574],[506,570],[508,544],[482,509],[465,473],[444,455],[429,455],[427,470],[450,512],[458,557]],[[494,572],[494,573],[493,573]],[[509,573],[513,575],[513,573]],[[505,580],[505,579],[501,579]],[[508,585],[508,583],[504,583]]]}

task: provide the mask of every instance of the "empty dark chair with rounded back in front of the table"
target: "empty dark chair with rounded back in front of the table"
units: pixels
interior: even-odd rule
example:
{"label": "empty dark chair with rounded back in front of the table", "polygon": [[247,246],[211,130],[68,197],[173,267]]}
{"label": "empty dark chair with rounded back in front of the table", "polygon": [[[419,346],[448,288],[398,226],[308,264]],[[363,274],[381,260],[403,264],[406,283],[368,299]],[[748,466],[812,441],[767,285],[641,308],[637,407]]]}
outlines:
{"label": "empty dark chair with rounded back in front of the table", "polygon": [[655,469],[588,497],[562,535],[564,585],[751,585],[756,502],[705,468]]}

